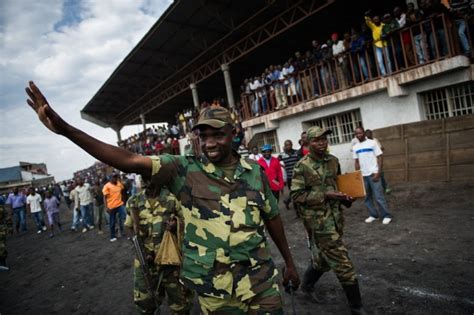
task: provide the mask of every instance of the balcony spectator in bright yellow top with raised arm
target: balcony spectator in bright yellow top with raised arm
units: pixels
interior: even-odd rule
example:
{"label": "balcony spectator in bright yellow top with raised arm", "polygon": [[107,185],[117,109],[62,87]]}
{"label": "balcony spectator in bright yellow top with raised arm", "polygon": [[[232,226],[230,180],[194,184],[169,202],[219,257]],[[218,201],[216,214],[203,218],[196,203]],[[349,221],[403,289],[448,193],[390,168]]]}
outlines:
{"label": "balcony spectator in bright yellow top with raised arm", "polygon": [[387,42],[382,38],[382,29],[384,24],[380,21],[380,17],[369,17],[370,11],[365,13],[365,23],[372,30],[372,40],[375,48],[375,56],[380,75],[386,76],[387,71],[391,71],[392,65],[388,57]]}

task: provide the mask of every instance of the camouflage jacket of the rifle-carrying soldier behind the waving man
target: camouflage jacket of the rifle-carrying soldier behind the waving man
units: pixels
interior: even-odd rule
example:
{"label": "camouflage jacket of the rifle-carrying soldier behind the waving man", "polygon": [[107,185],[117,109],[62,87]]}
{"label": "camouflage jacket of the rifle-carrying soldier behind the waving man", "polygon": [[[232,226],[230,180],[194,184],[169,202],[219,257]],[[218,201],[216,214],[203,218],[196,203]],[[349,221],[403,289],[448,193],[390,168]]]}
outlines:
{"label": "camouflage jacket of the rifle-carrying soldier behind the waving man", "polygon": [[[157,198],[150,197],[146,190],[130,197],[127,201],[127,211],[138,209],[139,231],[142,237],[145,250],[149,254],[156,254],[160,249],[160,244],[165,232],[165,222],[175,215],[182,218],[181,203],[166,188],[161,189]],[[125,225],[132,228],[133,220],[131,214],[127,214]]]}

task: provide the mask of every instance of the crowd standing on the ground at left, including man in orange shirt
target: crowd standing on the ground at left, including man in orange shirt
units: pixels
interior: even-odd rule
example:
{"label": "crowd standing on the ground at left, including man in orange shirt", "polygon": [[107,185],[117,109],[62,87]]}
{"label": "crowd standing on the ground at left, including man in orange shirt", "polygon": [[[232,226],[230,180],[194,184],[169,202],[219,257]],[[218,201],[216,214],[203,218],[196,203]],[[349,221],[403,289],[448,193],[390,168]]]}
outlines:
{"label": "crowd standing on the ground at left, including man in orange shirt", "polygon": [[[138,183],[138,184],[137,184]],[[111,186],[112,185],[112,186]],[[113,187],[120,187],[120,198]],[[54,226],[63,231],[60,223],[62,209],[72,211],[72,232],[87,232],[98,227],[98,233],[103,233],[103,227],[111,227],[111,240],[115,241],[115,215],[117,212],[121,235],[125,221],[125,209],[114,209],[118,199],[123,205],[127,199],[140,190],[140,181],[135,175],[120,177],[110,166],[96,162],[91,167],[74,173],[73,180],[66,180],[44,187],[15,187],[11,193],[0,195],[0,206],[10,208],[8,215],[8,230],[11,233],[22,234],[28,231],[27,218],[31,217],[36,227],[36,233],[41,234],[49,229],[49,236],[54,237]],[[44,217],[47,218],[45,223]],[[112,231],[113,230],[113,231]]]}

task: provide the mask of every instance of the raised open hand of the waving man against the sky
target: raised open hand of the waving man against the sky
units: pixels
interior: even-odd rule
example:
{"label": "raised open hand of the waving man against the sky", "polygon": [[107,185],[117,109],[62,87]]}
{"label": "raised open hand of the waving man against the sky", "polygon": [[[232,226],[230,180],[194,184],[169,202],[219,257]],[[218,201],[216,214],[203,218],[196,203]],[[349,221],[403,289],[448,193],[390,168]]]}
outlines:
{"label": "raised open hand of the waving man against the sky", "polygon": [[54,133],[62,134],[68,124],[49,106],[46,97],[33,81],[28,82],[28,85],[25,88],[26,94],[29,96],[29,99],[26,100],[28,105],[38,114],[43,125]]}

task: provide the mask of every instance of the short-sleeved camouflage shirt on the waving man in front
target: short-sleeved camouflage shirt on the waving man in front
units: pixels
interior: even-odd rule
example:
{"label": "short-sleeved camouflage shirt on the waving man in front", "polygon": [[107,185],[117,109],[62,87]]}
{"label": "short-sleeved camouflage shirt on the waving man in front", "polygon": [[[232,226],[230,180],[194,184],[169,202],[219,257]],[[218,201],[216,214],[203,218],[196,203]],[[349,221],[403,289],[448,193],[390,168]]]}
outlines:
{"label": "short-sleeved camouflage shirt on the waving man in front", "polygon": [[242,300],[270,287],[278,273],[264,220],[279,211],[260,166],[240,158],[229,179],[204,156],[161,155],[152,161],[151,183],[166,185],[181,201],[185,285],[199,295],[235,293]]}

